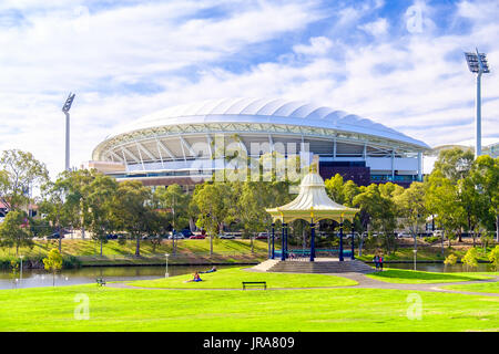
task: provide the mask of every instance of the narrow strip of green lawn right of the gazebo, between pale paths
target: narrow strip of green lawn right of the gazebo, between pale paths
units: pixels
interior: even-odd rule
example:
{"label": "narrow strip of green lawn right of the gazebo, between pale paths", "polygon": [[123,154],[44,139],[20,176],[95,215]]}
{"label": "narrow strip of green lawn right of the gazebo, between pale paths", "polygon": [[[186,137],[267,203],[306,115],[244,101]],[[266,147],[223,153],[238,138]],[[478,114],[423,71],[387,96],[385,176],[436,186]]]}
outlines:
{"label": "narrow strip of green lawn right of the gazebo, between pale paths", "polygon": [[436,272],[422,272],[406,269],[387,269],[383,272],[367,274],[366,277],[389,283],[403,283],[403,284],[445,283],[445,282],[450,283],[458,281],[471,281],[492,278],[483,274],[485,273],[464,273],[464,272],[436,273]]}

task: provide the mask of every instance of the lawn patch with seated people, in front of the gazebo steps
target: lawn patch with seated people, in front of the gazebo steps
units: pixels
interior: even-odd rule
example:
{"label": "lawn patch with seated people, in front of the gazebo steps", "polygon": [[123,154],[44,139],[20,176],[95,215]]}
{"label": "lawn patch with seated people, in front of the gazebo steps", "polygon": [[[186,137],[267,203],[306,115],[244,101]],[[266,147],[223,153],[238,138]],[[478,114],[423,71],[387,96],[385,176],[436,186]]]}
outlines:
{"label": "lawn patch with seated people, in front of the gazebo steps", "polygon": [[242,289],[243,281],[266,281],[267,288],[314,288],[314,287],[349,287],[357,282],[342,277],[324,274],[283,274],[261,273],[230,268],[214,273],[200,274],[203,281],[187,282],[192,274],[184,274],[157,280],[130,282],[130,285],[143,288],[179,288],[179,289]]}

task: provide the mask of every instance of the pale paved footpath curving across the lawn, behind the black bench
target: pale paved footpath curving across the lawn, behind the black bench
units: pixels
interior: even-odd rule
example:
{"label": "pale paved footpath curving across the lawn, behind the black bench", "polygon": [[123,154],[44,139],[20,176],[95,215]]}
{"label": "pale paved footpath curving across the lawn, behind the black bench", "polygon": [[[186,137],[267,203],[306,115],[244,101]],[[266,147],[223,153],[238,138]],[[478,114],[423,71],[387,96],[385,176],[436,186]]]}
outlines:
{"label": "pale paved footpath curving across the lawn, behind the black bench", "polygon": [[[485,282],[499,281],[499,277],[495,275],[492,279],[487,280],[475,280],[475,281],[459,281],[459,282],[447,282],[447,283],[427,283],[427,284],[400,284],[400,283],[388,283],[380,280],[375,280],[366,277],[361,273],[328,273],[329,275],[344,277],[358,282],[357,285],[350,287],[320,287],[320,288],[271,288],[268,290],[296,290],[296,289],[394,289],[394,290],[414,290],[414,291],[430,291],[430,292],[447,292],[447,293],[458,293],[466,295],[482,295],[482,296],[499,296],[497,293],[488,292],[471,292],[471,291],[460,291],[460,290],[449,290],[441,289],[440,287],[446,285],[465,285],[465,284],[479,284]],[[108,283],[110,288],[118,289],[144,289],[144,290],[186,290],[186,291],[241,291],[241,289],[180,289],[180,288],[143,288],[128,285],[126,282],[113,282]]]}

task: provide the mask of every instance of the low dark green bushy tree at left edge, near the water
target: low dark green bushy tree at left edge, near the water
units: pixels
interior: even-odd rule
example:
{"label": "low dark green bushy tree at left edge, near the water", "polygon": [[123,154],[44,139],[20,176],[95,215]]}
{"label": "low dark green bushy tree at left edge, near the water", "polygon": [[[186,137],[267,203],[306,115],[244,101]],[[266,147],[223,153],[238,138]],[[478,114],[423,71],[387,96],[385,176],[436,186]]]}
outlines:
{"label": "low dark green bushy tree at left edge, near the water", "polygon": [[2,247],[16,247],[16,257],[19,256],[20,247],[33,247],[29,219],[26,211],[10,211],[2,223],[0,223],[0,244]]}

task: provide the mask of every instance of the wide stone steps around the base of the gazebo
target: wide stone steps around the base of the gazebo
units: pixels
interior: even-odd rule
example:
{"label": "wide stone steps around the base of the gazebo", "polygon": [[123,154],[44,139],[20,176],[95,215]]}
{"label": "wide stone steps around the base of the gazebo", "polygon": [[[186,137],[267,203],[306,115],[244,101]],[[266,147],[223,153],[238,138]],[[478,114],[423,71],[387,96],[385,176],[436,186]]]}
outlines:
{"label": "wide stone steps around the base of the gazebo", "polygon": [[[274,264],[268,261],[274,261]],[[358,260],[319,260],[310,261],[282,261],[268,260],[256,267],[262,266],[258,270],[267,272],[291,272],[291,273],[370,273],[375,270],[366,263]],[[267,263],[268,262],[268,263]],[[263,266],[265,263],[265,266]],[[264,270],[266,269],[266,270]]]}

